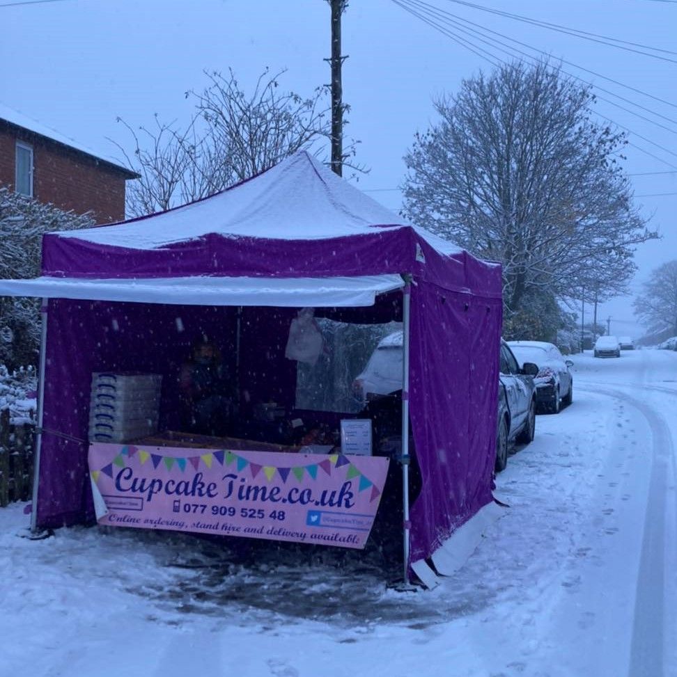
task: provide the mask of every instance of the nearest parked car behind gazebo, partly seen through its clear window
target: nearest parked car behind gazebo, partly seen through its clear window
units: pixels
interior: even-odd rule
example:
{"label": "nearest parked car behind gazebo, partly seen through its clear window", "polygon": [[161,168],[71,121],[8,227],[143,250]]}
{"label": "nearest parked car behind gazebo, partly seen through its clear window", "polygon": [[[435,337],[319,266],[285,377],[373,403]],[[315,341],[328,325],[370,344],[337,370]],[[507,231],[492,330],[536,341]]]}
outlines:
{"label": "nearest parked car behind gazebo, partly seen through its clear window", "polygon": [[[508,344],[501,341],[499,373],[499,406],[497,413],[495,470],[508,463],[508,449],[513,443],[528,444],[536,430],[536,392],[534,364],[518,364]],[[380,395],[402,390],[402,332],[382,339],[371,353],[364,370],[353,381],[355,397],[369,401]]]}

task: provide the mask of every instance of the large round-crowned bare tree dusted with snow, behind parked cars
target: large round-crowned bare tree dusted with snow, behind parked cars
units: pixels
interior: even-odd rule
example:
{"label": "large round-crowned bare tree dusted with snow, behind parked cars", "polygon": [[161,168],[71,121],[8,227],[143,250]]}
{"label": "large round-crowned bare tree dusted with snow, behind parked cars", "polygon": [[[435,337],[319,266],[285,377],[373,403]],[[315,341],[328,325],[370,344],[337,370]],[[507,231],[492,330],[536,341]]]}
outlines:
{"label": "large round-crowned bare tree dusted with snow, behind parked cars", "polygon": [[547,62],[504,65],[437,100],[405,157],[405,214],[503,264],[508,319],[540,292],[622,290],[635,245],[657,237],[632,205],[625,138],[593,102]]}

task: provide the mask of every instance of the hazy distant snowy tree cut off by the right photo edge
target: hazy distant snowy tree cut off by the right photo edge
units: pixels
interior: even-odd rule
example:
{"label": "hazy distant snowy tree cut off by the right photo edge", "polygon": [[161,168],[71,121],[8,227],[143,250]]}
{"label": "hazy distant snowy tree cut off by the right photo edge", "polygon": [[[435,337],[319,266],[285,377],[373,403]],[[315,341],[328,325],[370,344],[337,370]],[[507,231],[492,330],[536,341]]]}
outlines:
{"label": "hazy distant snowy tree cut off by the right photo edge", "polygon": [[655,333],[669,329],[672,336],[677,336],[677,260],[651,273],[634,306],[646,328]]}

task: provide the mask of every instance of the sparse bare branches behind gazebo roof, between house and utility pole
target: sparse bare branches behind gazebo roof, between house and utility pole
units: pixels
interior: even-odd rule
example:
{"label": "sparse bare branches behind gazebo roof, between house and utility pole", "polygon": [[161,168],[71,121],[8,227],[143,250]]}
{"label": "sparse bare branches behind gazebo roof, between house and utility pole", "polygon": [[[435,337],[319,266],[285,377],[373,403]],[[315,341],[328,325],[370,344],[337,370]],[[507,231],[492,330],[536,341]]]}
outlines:
{"label": "sparse bare branches behind gazebo roof, between house and utility pole", "polygon": [[[281,89],[283,73],[265,70],[247,94],[232,70],[227,75],[205,71],[205,88],[185,93],[194,103],[185,127],[156,115],[153,125],[136,130],[118,118],[134,150],[127,153],[114,143],[141,176],[127,184],[127,211],[142,216],[204,198],[297,150],[324,154],[331,137],[326,88],[301,97]],[[354,155],[351,141],[346,157]]]}

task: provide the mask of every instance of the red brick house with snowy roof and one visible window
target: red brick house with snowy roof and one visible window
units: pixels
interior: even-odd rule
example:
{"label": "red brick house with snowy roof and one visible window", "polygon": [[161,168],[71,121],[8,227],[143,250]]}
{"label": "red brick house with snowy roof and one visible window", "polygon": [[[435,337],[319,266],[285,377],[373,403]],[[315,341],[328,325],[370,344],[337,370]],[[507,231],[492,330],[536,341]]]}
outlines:
{"label": "red brick house with snowy roof and one visible window", "polygon": [[125,181],[138,175],[0,104],[0,185],[96,223],[125,218]]}

